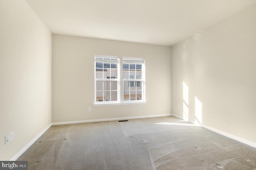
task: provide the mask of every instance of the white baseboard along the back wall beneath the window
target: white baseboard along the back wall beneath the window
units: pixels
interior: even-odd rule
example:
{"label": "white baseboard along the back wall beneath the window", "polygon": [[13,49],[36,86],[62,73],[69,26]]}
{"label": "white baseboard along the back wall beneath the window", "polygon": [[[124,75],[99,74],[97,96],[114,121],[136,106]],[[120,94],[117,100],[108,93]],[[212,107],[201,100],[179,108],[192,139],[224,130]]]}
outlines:
{"label": "white baseboard along the back wall beneath the window", "polygon": [[148,117],[162,117],[162,116],[171,116],[172,114],[162,114],[162,115],[146,115],[146,116],[134,116],[134,117],[118,117],[110,119],[94,119],[94,120],[82,120],[82,121],[65,121],[65,122],[55,122],[52,125],[66,125],[74,123],[91,123],[91,122],[100,122],[100,121],[117,121],[117,120],[126,120],[126,119],[140,119]]}

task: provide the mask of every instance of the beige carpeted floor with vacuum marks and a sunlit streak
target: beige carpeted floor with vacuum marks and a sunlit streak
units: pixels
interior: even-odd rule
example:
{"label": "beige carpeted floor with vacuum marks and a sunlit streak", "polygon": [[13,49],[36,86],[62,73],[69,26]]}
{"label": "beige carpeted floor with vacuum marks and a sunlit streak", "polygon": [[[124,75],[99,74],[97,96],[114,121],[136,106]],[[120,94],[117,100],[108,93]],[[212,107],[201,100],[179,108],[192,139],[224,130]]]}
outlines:
{"label": "beige carpeted floor with vacuum marks and a sunlit streak", "polygon": [[256,170],[256,148],[176,117],[52,126],[31,170]]}

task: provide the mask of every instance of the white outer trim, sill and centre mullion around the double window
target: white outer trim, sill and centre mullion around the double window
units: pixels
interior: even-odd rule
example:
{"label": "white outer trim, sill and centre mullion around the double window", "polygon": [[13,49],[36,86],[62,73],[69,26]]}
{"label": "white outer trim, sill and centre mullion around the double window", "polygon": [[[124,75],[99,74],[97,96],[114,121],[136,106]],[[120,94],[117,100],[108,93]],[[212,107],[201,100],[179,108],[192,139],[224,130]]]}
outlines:
{"label": "white outer trim, sill and centre mullion around the double window", "polygon": [[[117,78],[117,98],[118,100],[117,101],[106,101],[106,102],[98,102],[96,101],[96,62],[94,60],[94,106],[110,106],[110,105],[129,105],[129,104],[146,104],[146,76],[145,76],[145,59],[144,58],[135,58],[135,57],[123,57],[123,60],[130,60],[130,61],[143,61],[143,64],[142,64],[142,75],[141,75],[141,79],[136,79],[137,81],[141,81],[141,84],[140,86],[142,87],[142,100],[127,100],[125,101],[124,100],[124,80],[126,79],[122,79],[122,82],[123,82],[123,87],[122,87],[122,93],[120,93],[120,75],[123,73],[123,68],[121,69],[120,66],[123,65],[123,64],[126,64],[124,62],[120,63],[120,57],[117,57],[117,56],[106,56],[106,55],[94,55],[94,59],[95,58],[113,58],[113,59],[118,59],[118,78]],[[111,79],[111,78],[110,78]],[[108,80],[110,80],[108,79]],[[135,81],[136,83],[136,80],[131,80],[131,81]],[[122,100],[120,100],[120,95],[122,95]]]}

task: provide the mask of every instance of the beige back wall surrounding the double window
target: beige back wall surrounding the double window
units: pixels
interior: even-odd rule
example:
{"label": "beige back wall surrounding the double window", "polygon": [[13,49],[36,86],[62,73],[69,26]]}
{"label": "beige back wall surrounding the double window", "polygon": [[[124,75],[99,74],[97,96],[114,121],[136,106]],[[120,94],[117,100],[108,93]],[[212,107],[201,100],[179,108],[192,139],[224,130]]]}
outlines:
{"label": "beige back wall surrounding the double window", "polygon": [[[147,103],[93,106],[94,55],[145,58]],[[171,47],[53,34],[52,58],[52,122],[171,113]]]}

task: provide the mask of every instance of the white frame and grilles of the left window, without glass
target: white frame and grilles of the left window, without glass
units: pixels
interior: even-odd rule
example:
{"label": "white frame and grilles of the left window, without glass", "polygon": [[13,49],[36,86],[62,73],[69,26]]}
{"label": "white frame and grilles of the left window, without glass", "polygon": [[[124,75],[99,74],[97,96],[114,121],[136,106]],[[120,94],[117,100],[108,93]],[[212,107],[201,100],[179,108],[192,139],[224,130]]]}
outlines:
{"label": "white frame and grilles of the left window, without glass", "polygon": [[[118,62],[117,64],[117,78],[111,78],[112,76],[110,76],[110,78],[103,77],[103,78],[96,78],[96,62],[100,62],[103,61],[104,63],[108,63],[110,62],[111,65],[111,61],[108,59],[116,59]],[[116,104],[116,103],[120,103],[120,57],[116,57],[116,56],[106,56],[106,55],[94,55],[94,104]],[[104,70],[104,68],[102,68]],[[104,72],[103,72],[104,75]],[[116,101],[112,101],[112,99],[104,99],[104,96],[102,96],[102,100],[97,100],[97,81],[102,81],[103,82],[103,86],[104,86],[104,82],[106,81],[116,81],[117,82],[117,100]],[[110,98],[111,98],[111,85],[110,85]],[[114,91],[114,90],[113,90]],[[104,88],[102,90],[102,92],[104,93]],[[107,92],[107,90],[106,90]]]}

